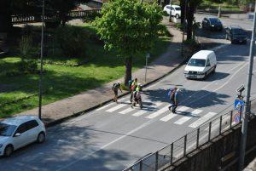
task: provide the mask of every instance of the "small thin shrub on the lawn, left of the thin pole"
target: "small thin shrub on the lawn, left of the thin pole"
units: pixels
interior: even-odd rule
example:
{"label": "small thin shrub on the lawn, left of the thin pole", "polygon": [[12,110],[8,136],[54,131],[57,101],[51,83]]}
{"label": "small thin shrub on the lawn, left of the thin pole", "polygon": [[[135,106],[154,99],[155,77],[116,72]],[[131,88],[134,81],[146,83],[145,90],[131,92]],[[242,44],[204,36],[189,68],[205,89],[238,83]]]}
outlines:
{"label": "small thin shrub on the lawn, left of the thin pole", "polygon": [[29,59],[31,57],[32,49],[32,36],[23,36],[20,39],[20,57],[22,60]]}

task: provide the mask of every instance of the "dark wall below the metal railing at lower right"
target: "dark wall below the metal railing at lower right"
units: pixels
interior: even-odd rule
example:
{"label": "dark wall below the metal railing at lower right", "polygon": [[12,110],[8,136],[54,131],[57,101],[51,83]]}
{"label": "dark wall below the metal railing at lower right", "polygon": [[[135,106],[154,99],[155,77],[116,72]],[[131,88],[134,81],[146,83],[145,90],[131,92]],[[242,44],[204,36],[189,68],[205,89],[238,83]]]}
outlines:
{"label": "dark wall below the metal railing at lower right", "polygon": [[[165,171],[236,171],[237,159],[239,156],[241,125],[225,132],[211,143],[204,145],[200,150],[194,151],[182,161],[174,163],[174,166],[167,166]],[[248,124],[247,132],[247,157],[246,164],[256,157],[256,117]]]}

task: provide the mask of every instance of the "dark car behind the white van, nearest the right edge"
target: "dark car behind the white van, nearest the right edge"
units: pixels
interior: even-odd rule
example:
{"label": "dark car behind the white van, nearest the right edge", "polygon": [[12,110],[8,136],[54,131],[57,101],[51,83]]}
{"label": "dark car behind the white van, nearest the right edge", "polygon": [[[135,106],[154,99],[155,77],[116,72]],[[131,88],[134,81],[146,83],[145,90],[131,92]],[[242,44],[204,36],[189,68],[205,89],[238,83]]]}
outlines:
{"label": "dark car behind the white van, nearest the right edge", "polygon": [[226,39],[231,43],[247,43],[247,33],[240,26],[226,28]]}

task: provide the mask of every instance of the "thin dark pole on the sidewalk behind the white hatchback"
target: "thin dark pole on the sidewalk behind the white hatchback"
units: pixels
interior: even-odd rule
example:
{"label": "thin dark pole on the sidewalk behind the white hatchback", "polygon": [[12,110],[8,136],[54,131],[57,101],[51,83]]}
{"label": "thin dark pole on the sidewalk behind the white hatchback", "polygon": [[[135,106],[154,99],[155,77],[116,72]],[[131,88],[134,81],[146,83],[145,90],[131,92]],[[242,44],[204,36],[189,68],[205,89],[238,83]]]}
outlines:
{"label": "thin dark pole on the sidewalk behind the white hatchback", "polygon": [[42,118],[42,75],[43,75],[43,56],[44,56],[44,0],[42,8],[42,33],[41,33],[41,56],[40,56],[40,77],[39,77],[39,107],[38,117]]}

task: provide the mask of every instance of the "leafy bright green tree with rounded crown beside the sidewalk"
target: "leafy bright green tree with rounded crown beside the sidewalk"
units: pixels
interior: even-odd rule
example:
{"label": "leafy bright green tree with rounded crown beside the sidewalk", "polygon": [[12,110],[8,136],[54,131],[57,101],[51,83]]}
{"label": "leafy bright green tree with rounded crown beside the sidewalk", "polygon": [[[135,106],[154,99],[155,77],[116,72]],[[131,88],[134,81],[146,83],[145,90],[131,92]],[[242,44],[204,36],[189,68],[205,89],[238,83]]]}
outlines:
{"label": "leafy bright green tree with rounded crown beside the sidewalk", "polygon": [[162,29],[162,10],[138,0],[110,0],[103,4],[102,17],[95,21],[105,48],[125,57],[125,85],[131,80],[132,59],[147,53]]}

